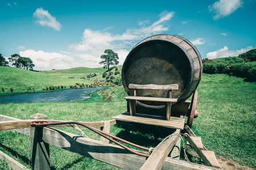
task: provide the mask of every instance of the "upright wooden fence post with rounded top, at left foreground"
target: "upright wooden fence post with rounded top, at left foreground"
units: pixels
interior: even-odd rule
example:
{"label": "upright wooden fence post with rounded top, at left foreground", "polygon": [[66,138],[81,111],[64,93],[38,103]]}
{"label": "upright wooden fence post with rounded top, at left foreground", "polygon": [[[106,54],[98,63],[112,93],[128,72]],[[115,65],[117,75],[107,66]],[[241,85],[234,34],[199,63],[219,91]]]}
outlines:
{"label": "upright wooden fence post with rounded top, at left foreground", "polygon": [[[30,116],[30,119],[48,119],[45,114],[36,113]],[[49,144],[44,142],[43,128],[31,128],[31,152],[32,169],[51,169],[49,162]]]}

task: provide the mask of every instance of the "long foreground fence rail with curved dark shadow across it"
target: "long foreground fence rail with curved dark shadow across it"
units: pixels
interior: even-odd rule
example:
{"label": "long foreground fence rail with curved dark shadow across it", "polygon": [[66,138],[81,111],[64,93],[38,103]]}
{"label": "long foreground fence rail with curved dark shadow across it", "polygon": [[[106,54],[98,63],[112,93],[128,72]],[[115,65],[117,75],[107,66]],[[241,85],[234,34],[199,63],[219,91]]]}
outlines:
{"label": "long foreground fence rail with curved dark shadow across it", "polygon": [[[131,154],[129,151],[110,143],[104,143],[65,131],[44,128],[43,141],[50,145],[72,151],[82,156],[100,160],[122,169],[139,169],[146,158]],[[215,169],[182,160],[167,158],[162,169]]]}

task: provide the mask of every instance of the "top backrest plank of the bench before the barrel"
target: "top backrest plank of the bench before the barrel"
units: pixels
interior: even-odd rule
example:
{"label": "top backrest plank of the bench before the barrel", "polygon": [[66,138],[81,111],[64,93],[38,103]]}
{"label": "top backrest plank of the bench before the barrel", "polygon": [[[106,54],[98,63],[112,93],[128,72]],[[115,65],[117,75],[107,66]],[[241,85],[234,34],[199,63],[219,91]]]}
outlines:
{"label": "top backrest plank of the bench before the barrel", "polygon": [[129,84],[129,88],[153,89],[153,90],[178,90],[178,84],[156,85],[156,84]]}

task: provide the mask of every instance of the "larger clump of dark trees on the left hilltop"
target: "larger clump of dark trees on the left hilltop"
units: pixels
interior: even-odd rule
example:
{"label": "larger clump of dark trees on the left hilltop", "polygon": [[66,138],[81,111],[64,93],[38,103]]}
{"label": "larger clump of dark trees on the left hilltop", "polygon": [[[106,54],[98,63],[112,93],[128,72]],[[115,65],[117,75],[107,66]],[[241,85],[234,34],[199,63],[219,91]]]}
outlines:
{"label": "larger clump of dark trees on the left hilltop", "polygon": [[9,61],[13,62],[13,66],[20,69],[33,70],[33,67],[35,66],[32,59],[28,57],[20,57],[19,54],[11,55]]}

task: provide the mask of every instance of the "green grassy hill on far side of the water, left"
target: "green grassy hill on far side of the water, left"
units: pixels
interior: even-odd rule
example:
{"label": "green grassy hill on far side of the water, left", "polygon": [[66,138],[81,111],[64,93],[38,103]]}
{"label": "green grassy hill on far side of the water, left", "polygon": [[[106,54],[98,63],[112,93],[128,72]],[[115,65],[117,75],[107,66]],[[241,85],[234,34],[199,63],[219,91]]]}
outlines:
{"label": "green grassy hill on far side of the water, left", "polygon": [[18,69],[16,67],[0,66],[0,73],[0,95],[9,95],[11,93],[10,88],[13,88],[14,92],[26,92],[42,91],[43,88],[48,86],[66,86],[68,88],[68,86],[73,86],[75,83],[92,83],[85,79],[65,78],[54,74]]}

